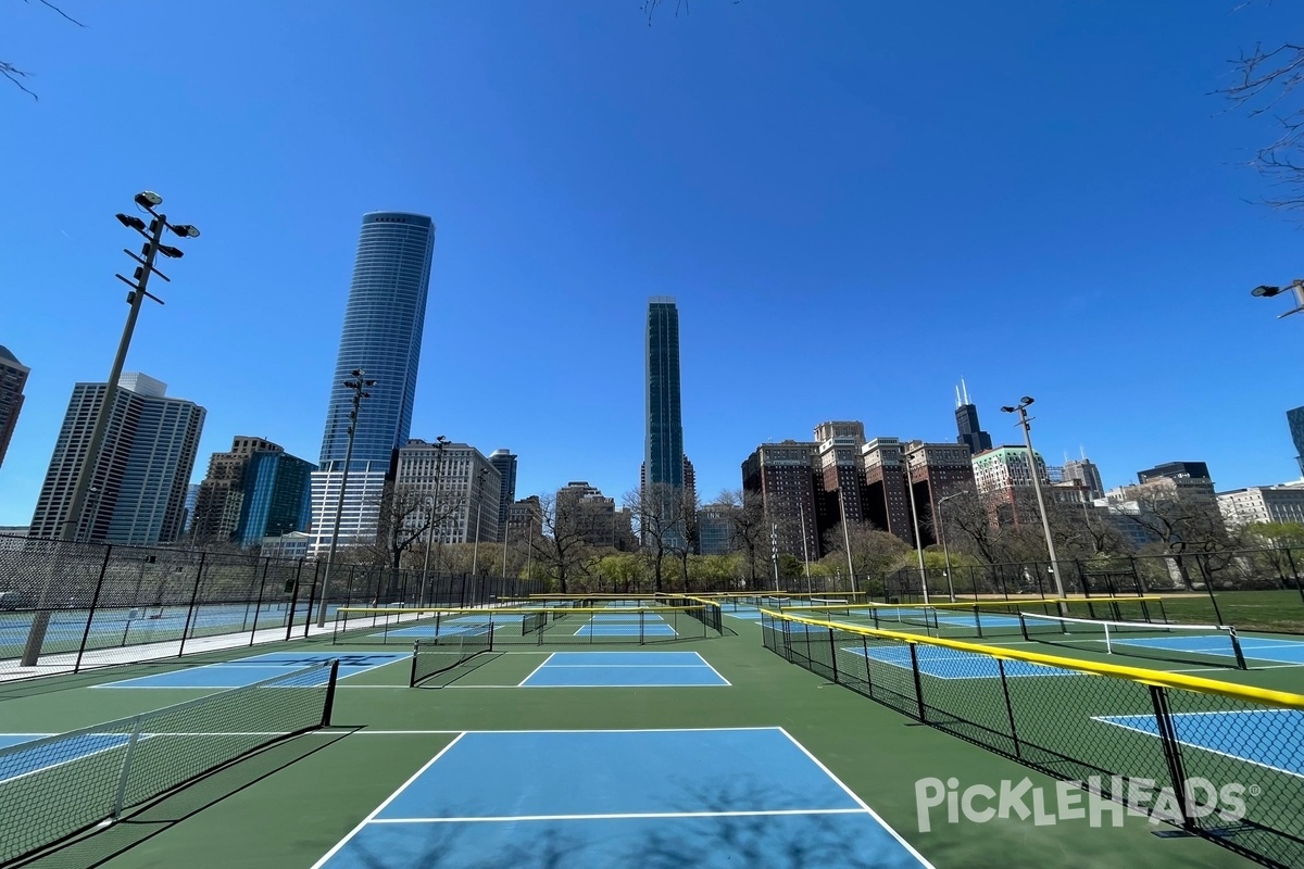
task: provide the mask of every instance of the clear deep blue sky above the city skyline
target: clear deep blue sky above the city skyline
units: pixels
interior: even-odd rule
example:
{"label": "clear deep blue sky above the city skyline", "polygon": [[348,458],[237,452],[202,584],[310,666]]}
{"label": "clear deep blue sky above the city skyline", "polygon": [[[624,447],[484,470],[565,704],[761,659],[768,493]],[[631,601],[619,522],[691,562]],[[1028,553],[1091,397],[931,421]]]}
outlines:
{"label": "clear deep blue sky above the city skyline", "polygon": [[200,225],[128,370],[316,460],[359,219],[438,224],[412,435],[520,456],[518,496],[619,498],[643,455],[648,296],[678,298],[709,498],[824,420],[998,443],[1037,397],[1107,486],[1205,460],[1297,477],[1304,317],[1249,288],[1300,229],[1237,165],[1271,130],[1210,95],[1290,4],[63,0],[0,9],[0,344],[31,366],[0,468],[30,521],[73,383],[103,380],[153,189]]}

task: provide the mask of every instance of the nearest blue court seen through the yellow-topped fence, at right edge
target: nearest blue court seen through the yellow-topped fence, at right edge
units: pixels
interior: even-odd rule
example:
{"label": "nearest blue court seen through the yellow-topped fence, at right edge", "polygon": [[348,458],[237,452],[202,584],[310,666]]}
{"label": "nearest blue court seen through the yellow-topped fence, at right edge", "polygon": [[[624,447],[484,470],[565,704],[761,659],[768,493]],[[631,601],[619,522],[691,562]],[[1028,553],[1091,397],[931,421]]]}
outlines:
{"label": "nearest blue court seen through the yellow-topped fence, at right edge", "polygon": [[[1304,730],[1304,711],[1175,713],[1171,718],[1183,745],[1304,776],[1304,747],[1299,740],[1283,739]],[[1094,720],[1159,737],[1154,715],[1099,715]]]}

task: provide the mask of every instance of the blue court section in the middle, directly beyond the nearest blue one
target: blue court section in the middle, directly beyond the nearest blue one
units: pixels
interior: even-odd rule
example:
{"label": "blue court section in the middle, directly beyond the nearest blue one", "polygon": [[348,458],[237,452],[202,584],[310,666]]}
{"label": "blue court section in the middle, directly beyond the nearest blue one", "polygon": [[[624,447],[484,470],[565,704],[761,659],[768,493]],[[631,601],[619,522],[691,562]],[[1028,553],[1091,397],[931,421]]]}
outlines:
{"label": "blue court section in the middle, directly beyond the nearest blue one", "polygon": [[522,688],[691,688],[728,685],[696,651],[557,651]]}

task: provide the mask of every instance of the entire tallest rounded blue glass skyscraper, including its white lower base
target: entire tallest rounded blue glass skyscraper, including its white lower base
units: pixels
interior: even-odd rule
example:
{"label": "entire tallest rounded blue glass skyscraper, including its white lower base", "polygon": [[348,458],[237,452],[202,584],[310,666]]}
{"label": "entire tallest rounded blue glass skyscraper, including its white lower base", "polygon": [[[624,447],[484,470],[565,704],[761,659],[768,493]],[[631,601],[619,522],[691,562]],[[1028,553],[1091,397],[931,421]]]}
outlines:
{"label": "entire tallest rounded blue glass skyscraper, including its white lower base", "polygon": [[314,555],[330,546],[335,524],[353,399],[344,382],[355,369],[377,383],[368,388],[370,397],[359,410],[340,538],[346,545],[365,543],[376,535],[390,461],[412,429],[433,253],[430,218],[396,211],[363,215],[326,410],[321,470],[312,477]]}

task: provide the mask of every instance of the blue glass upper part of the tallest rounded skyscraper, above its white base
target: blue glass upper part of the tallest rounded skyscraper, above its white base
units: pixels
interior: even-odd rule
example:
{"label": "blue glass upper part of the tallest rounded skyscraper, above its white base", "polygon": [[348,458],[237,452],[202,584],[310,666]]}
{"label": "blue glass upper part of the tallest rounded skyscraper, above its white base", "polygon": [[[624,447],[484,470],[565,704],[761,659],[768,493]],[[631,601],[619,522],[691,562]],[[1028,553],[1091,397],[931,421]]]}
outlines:
{"label": "blue glass upper part of the tallest rounded skyscraper, above its white base", "polygon": [[394,448],[407,443],[433,251],[430,218],[400,211],[363,215],[326,412],[322,470],[343,463],[348,448],[352,392],[343,383],[353,369],[363,369],[369,379],[377,380],[359,413],[353,466],[361,463],[389,466]]}

